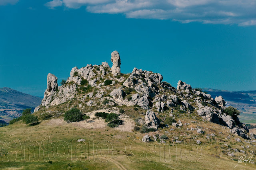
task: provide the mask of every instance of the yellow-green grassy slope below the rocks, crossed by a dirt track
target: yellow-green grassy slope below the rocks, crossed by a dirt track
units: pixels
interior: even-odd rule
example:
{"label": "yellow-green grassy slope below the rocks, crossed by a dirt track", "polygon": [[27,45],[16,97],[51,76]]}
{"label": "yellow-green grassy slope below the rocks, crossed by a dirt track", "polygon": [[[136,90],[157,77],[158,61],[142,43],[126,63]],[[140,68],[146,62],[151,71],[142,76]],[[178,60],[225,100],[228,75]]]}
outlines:
{"label": "yellow-green grassy slope below the rocks, crossed by a dirt track", "polygon": [[[129,112],[129,107],[122,108],[126,112]],[[90,113],[86,114],[90,115]],[[142,143],[139,139],[142,139],[145,133],[142,134],[127,129],[125,128],[125,123],[118,128],[110,128],[106,126],[103,119],[99,118],[96,125],[94,123],[96,119],[92,115],[87,122],[66,123],[62,115],[59,115],[58,118],[51,120],[41,120],[41,123],[36,126],[28,126],[24,122],[19,121],[7,127],[1,127],[0,148],[3,147],[2,160],[7,160],[6,155],[8,154],[10,162],[0,160],[0,168],[227,170],[234,169],[240,156],[246,155],[247,159],[253,156],[253,159],[255,159],[255,155],[251,152],[251,150],[256,150],[254,145],[250,145],[244,139],[230,133],[229,129],[221,125],[203,121],[201,117],[194,114],[191,117],[185,114],[179,117],[182,123],[190,123],[190,125],[184,125],[180,129],[175,128],[173,131],[170,128],[160,128],[157,132],[147,133],[150,136],[153,134],[159,134],[160,136],[167,135],[168,139],[164,140],[166,144],[159,144],[157,142]],[[122,116],[121,119],[125,120],[124,122],[128,121],[126,118],[129,118],[129,116]],[[130,117],[133,116],[131,115]],[[132,123],[132,127],[134,124],[135,122]],[[186,130],[191,127],[200,127],[204,131],[204,134]],[[206,139],[207,135],[209,139]],[[237,138],[241,142],[236,141]],[[14,145],[12,139],[16,142],[16,145]],[[86,139],[84,142],[86,151],[84,143],[76,142],[78,139]],[[5,140],[6,143],[4,143]],[[30,147],[30,153],[28,153],[28,140],[36,141],[31,143],[35,146],[39,145],[39,151],[38,147],[36,147],[35,154],[33,152],[33,146]],[[195,141],[197,140],[202,142],[201,145],[196,144]],[[49,141],[52,141],[52,143]],[[180,145],[175,141],[183,141],[181,144],[184,145]],[[7,148],[9,142],[8,147],[19,147],[21,145],[22,151],[18,147]],[[47,149],[46,146],[50,143],[51,145]],[[79,146],[75,151],[76,145],[78,144],[82,145],[82,156]],[[170,152],[168,152],[169,149]],[[242,149],[245,153],[235,152],[234,149]],[[46,154],[47,150],[48,154]],[[16,153],[10,151],[16,151],[18,153],[17,158]],[[234,152],[234,156],[229,156],[228,152]],[[76,158],[74,156],[75,153],[77,155]],[[28,155],[30,156],[30,160]],[[15,162],[15,158],[16,161],[21,160],[21,162]],[[85,160],[85,162],[80,161],[80,158],[82,158],[82,161]],[[245,162],[239,163],[236,166],[236,169],[244,170],[255,168],[256,165],[249,162],[247,164]]]}

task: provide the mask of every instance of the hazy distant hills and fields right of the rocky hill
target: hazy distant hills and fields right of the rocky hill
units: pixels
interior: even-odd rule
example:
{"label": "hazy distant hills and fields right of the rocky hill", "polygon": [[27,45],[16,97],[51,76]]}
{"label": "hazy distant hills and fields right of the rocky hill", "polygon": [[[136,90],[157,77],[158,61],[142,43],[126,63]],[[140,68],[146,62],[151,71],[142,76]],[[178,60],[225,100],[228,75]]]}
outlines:
{"label": "hazy distant hills and fields right of the rocky hill", "polygon": [[241,121],[256,124],[256,90],[238,92],[211,88],[202,88],[202,90],[212,95],[212,98],[222,96],[227,102],[227,106],[236,107],[241,111],[239,116]]}

